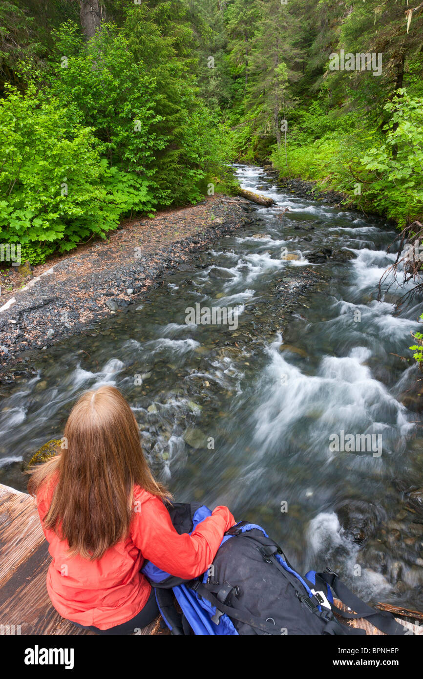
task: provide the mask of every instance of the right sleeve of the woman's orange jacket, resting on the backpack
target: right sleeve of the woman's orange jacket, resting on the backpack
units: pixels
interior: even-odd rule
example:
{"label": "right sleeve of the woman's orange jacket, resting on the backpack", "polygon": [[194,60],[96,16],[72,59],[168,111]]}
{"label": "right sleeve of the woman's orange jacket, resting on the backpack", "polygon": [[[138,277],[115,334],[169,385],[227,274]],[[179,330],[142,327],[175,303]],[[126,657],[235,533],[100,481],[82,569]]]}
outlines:
{"label": "right sleeve of the woman's orange jacket, resting on the backpack", "polygon": [[208,569],[223,534],[235,523],[227,507],[216,507],[191,535],[179,535],[162,500],[149,495],[134,514],[131,537],[145,559],[170,575],[190,579]]}

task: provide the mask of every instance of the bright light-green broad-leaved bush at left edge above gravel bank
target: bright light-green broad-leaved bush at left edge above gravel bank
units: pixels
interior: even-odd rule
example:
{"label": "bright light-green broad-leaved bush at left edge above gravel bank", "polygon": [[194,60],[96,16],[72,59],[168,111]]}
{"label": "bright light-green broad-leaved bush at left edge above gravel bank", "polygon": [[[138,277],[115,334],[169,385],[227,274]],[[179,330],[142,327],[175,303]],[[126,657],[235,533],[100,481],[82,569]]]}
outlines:
{"label": "bright light-green broad-leaved bush at left edge above gravel bank", "polygon": [[[151,210],[147,186],[100,160],[92,128],[81,126],[56,98],[13,88],[0,101],[0,236],[20,242],[30,261],[56,246],[105,236],[128,210]],[[41,254],[40,244],[45,244]]]}

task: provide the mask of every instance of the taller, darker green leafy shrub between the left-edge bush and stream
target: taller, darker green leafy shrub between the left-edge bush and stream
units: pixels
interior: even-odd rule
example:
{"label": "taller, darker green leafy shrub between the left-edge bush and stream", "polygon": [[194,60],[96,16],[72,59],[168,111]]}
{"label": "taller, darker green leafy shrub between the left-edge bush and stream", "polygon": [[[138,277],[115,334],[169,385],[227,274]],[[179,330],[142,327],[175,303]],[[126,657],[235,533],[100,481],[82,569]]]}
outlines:
{"label": "taller, darker green leafy shrub between the left-edge bush and stream", "polygon": [[149,183],[156,204],[196,202],[204,180],[222,170],[227,131],[143,12],[129,8],[124,29],[107,24],[88,45],[77,26],[62,26],[57,49],[70,56],[66,68],[58,61],[50,87],[94,130],[111,166]]}

